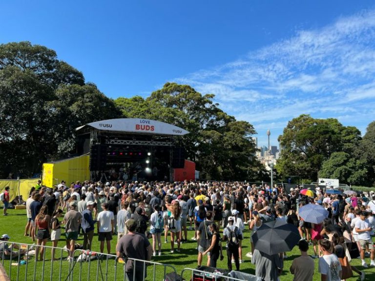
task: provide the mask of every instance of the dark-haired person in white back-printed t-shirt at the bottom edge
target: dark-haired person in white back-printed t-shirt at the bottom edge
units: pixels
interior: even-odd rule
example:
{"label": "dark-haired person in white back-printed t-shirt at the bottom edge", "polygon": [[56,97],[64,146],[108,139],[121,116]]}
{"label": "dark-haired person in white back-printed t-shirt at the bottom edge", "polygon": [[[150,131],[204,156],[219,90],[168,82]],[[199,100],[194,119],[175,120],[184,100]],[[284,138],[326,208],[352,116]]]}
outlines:
{"label": "dark-haired person in white back-printed t-shirt at the bottom edge", "polygon": [[319,250],[323,252],[323,256],[319,258],[318,262],[318,271],[321,274],[321,280],[340,281],[342,268],[337,256],[332,253],[333,245],[331,241],[325,239],[319,240]]}

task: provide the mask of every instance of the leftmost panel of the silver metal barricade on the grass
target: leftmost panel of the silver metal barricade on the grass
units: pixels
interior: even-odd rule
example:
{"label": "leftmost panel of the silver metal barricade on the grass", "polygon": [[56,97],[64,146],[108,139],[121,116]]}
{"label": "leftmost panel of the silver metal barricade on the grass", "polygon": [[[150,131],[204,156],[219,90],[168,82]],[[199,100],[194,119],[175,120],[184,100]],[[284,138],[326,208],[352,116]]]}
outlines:
{"label": "leftmost panel of the silver metal barricade on the grass", "polygon": [[[70,251],[67,249],[8,241],[0,241],[0,244],[2,244],[1,264],[12,281],[61,280],[65,271],[70,271],[71,264],[66,261]],[[34,254],[31,253],[32,250],[35,250]],[[55,260],[51,259],[52,250],[54,250]],[[10,255],[6,255],[6,251]],[[33,259],[37,251],[42,253],[42,259],[39,261]],[[14,273],[15,271],[17,271],[17,274]],[[45,273],[49,274],[49,278],[45,278]]]}

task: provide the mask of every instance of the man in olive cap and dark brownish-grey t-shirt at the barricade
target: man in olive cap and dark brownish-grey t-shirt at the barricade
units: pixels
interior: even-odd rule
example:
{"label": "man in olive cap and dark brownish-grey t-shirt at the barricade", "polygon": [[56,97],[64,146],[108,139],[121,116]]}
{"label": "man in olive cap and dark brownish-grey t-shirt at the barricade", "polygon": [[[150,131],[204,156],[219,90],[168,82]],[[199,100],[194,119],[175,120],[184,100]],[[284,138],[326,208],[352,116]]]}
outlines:
{"label": "man in olive cap and dark brownish-grey t-shirt at the barricade", "polygon": [[[126,221],[128,233],[125,234],[116,246],[117,258],[128,258],[124,270],[128,281],[144,281],[146,279],[146,263],[151,261],[152,247],[145,235],[137,233],[137,222],[133,219]],[[136,259],[141,261],[132,261]]]}

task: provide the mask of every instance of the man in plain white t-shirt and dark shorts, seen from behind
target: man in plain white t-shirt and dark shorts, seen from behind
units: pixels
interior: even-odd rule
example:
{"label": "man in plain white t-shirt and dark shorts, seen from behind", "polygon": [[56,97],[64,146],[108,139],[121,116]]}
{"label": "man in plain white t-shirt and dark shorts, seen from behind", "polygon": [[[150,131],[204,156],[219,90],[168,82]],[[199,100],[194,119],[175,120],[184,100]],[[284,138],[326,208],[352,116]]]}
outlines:
{"label": "man in plain white t-shirt and dark shorts, seen from behind", "polygon": [[100,241],[100,252],[104,252],[104,241],[107,243],[107,252],[111,253],[111,240],[114,233],[115,217],[111,211],[108,211],[108,203],[102,204],[103,211],[98,215],[98,240]]}

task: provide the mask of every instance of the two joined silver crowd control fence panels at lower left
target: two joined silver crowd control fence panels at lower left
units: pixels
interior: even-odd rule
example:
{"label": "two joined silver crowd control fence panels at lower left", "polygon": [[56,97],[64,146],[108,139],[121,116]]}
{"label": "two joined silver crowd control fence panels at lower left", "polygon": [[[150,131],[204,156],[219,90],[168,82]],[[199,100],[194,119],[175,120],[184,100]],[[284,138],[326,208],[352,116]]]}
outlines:
{"label": "two joined silver crowd control fence panels at lower left", "polygon": [[[6,244],[6,251],[2,250],[1,244]],[[0,249],[0,261],[10,281],[127,281],[130,275],[133,280],[164,281],[167,274],[177,275],[172,265],[130,258],[118,259],[115,255],[87,250],[75,250],[73,259],[69,259],[70,251],[66,248],[0,241]],[[55,251],[54,260],[52,249]],[[38,261],[35,255],[37,250],[39,253],[42,251]],[[12,255],[7,255],[9,253]],[[126,273],[125,263],[131,263],[138,270]],[[142,271],[142,268],[146,270]],[[134,278],[136,276],[138,279]]]}

